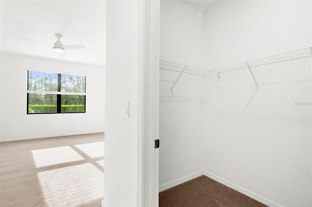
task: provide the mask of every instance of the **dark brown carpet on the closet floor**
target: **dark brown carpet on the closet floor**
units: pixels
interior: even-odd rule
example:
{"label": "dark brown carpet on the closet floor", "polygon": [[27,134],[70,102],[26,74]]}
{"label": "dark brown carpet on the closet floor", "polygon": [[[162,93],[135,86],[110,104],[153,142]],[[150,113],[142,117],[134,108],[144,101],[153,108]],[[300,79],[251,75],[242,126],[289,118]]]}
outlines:
{"label": "dark brown carpet on the closet floor", "polygon": [[159,193],[159,207],[266,207],[204,175]]}

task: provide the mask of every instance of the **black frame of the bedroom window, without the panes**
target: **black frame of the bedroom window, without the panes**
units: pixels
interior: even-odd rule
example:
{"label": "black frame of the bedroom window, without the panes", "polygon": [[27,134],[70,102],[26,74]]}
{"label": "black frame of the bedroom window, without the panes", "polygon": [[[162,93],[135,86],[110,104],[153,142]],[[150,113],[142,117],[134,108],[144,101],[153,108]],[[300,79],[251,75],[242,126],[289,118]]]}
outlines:
{"label": "black frame of the bedroom window, without the panes", "polygon": [[[27,90],[28,90],[28,75],[29,70],[27,70]],[[85,77],[85,89],[86,91],[86,82],[87,77]],[[58,92],[61,92],[61,73],[58,73]],[[47,93],[47,91],[42,91],[42,93]],[[49,94],[49,93],[47,93]],[[51,93],[50,93],[51,94]],[[84,96],[84,111],[83,112],[61,112],[61,103],[62,103],[62,94],[56,94],[57,95],[57,112],[46,112],[46,113],[28,113],[28,101],[29,101],[29,93],[27,92],[27,101],[26,101],[26,114],[80,114],[80,113],[86,113],[86,95],[79,95]],[[64,95],[75,95],[75,94],[64,94]]]}

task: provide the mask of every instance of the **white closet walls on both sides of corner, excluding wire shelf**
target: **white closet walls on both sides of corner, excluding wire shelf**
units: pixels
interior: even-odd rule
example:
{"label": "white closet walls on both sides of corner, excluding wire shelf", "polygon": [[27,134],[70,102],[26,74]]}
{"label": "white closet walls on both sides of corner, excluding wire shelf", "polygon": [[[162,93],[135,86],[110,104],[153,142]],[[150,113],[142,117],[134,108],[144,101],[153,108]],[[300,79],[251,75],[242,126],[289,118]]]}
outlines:
{"label": "white closet walls on both sides of corner, excluding wire shelf", "polygon": [[[213,69],[307,48],[311,11],[311,1],[222,1],[206,12],[161,1],[160,59]],[[254,68],[259,91],[244,69],[183,74],[170,92],[178,73],[160,69],[160,188],[205,171],[279,205],[312,206],[311,63]]]}

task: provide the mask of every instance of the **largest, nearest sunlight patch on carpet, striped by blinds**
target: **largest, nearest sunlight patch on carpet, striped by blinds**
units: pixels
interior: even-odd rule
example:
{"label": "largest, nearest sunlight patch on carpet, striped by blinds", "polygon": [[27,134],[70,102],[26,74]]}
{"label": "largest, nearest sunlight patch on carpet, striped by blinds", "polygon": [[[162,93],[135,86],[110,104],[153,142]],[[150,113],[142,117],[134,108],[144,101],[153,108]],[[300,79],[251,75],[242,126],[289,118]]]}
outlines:
{"label": "largest, nearest sunlight patch on carpet, striped by blinds", "polygon": [[104,194],[103,173],[91,163],[41,172],[38,178],[49,207],[81,206]]}

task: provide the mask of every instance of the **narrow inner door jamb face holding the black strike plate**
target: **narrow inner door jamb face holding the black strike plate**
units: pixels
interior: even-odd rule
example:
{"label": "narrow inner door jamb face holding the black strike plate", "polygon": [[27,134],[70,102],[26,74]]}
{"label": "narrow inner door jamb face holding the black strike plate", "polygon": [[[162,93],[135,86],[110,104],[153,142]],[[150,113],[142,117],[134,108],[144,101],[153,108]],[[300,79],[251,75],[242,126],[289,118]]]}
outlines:
{"label": "narrow inner door jamb face holding the black strike plate", "polygon": [[160,140],[159,137],[159,35],[160,35],[160,0],[150,1],[150,73],[149,73],[149,203],[151,207],[158,207],[159,195],[159,149],[154,148],[155,139]]}

